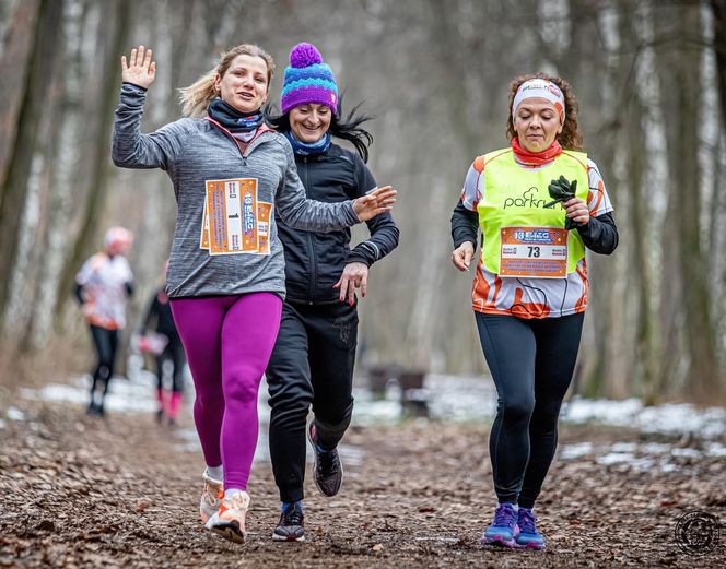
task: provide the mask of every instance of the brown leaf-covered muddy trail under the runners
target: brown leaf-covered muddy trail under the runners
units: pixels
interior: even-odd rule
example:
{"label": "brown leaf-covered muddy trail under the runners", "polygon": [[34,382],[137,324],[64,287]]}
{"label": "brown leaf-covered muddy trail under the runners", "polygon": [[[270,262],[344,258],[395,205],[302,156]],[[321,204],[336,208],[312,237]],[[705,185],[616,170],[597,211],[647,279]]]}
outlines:
{"label": "brown leaf-covered muddy trail under the runners", "polygon": [[[340,495],[318,495],[308,467],[305,543],[270,538],[277,490],[269,463],[255,464],[239,546],[200,524],[201,453],[178,430],[147,414],[99,419],[40,402],[23,411],[0,428],[0,567],[726,567],[723,527],[710,550],[684,552],[675,538],[691,510],[726,521],[723,457],[674,453],[675,467],[658,469],[607,464],[598,450],[676,440],[561,429],[561,449],[587,444],[552,465],[537,508],[548,549],[523,552],[479,544],[495,505],[488,425],[353,427],[344,443],[359,459],[346,464]],[[191,427],[188,415],[183,424]]]}

